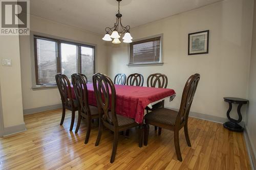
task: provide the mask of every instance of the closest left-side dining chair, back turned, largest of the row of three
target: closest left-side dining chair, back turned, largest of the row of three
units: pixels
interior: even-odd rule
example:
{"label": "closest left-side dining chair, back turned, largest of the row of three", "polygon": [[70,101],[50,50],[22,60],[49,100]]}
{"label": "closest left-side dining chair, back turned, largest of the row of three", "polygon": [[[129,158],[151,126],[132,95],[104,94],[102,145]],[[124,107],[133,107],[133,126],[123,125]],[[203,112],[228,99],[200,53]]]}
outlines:
{"label": "closest left-side dining chair, back turned, largest of the row of three", "polygon": [[[100,73],[93,75],[93,87],[99,108],[99,131],[95,146],[99,145],[103,126],[114,132],[114,142],[110,162],[113,163],[116,156],[118,133],[137,127],[134,119],[116,114],[116,90],[112,80]],[[143,139],[143,130],[139,129],[139,143]]]}

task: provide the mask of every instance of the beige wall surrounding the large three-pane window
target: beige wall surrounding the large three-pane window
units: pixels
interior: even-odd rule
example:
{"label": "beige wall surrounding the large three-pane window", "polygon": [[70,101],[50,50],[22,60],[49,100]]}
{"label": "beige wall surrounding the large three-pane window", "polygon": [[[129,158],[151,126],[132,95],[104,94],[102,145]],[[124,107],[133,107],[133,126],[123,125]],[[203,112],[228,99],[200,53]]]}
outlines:
{"label": "beige wall surrounding the large three-pane window", "polygon": [[[35,16],[31,16],[30,25],[31,31],[34,32],[97,44],[96,71],[106,73],[106,47],[101,39],[101,35]],[[31,88],[32,68],[29,36],[20,36],[20,62],[22,68],[23,108],[31,109],[60,104],[60,96],[57,89],[32,90]]]}

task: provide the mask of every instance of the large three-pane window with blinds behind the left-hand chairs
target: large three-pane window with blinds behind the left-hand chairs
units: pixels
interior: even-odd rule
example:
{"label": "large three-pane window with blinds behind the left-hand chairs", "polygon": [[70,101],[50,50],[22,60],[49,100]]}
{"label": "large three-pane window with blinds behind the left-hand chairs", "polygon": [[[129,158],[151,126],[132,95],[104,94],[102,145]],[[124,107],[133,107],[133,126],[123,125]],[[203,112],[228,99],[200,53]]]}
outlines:
{"label": "large three-pane window with blinds behind the left-hand chairs", "polygon": [[82,73],[92,81],[95,46],[33,35],[36,85],[56,85],[55,75]]}

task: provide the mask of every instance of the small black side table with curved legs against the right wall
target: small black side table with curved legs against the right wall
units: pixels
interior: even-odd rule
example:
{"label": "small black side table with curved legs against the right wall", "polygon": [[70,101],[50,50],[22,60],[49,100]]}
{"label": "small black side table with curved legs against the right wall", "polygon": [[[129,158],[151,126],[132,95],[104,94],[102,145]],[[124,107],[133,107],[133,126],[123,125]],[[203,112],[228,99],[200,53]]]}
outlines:
{"label": "small black side table with curved legs against the right wall", "polygon": [[[244,128],[238,124],[242,121],[241,107],[243,106],[243,104],[247,104],[249,101],[240,98],[224,98],[224,101],[228,102],[229,104],[229,108],[227,111],[227,118],[229,119],[229,122],[224,123],[223,126],[230,131],[243,132]],[[238,120],[233,119],[229,116],[229,113],[232,109],[232,103],[238,104]]]}

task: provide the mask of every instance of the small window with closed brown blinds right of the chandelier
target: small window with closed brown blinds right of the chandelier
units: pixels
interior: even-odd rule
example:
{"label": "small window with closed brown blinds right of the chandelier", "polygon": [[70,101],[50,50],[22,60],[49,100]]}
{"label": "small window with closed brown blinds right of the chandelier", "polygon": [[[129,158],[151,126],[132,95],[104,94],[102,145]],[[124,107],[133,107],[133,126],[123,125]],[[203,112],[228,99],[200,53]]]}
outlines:
{"label": "small window with closed brown blinds right of the chandelier", "polygon": [[162,37],[143,39],[130,43],[129,65],[161,64]]}

